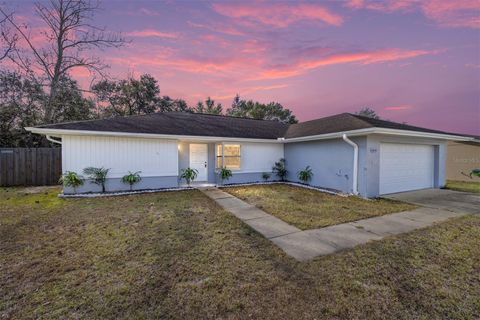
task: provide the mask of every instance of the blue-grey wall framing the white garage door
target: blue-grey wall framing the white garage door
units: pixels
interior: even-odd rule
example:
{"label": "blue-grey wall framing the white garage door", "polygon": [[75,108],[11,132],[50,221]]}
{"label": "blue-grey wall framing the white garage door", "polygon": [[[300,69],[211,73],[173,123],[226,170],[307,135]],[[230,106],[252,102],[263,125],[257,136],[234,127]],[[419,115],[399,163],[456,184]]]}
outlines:
{"label": "blue-grey wall framing the white garage door", "polygon": [[365,150],[367,179],[364,180],[365,185],[363,189],[367,197],[379,196],[380,145],[382,142],[433,145],[435,147],[434,187],[441,188],[445,186],[446,142],[444,140],[374,134],[368,136]]}

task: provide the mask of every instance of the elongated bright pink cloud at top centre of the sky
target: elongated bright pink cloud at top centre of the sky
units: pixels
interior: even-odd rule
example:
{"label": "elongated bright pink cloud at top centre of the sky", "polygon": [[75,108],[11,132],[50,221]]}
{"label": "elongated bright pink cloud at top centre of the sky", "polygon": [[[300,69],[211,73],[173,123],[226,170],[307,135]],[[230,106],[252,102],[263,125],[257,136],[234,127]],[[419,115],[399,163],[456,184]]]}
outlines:
{"label": "elongated bright pink cloud at top centre of the sky", "polygon": [[302,20],[322,21],[333,26],[343,23],[340,15],[318,4],[215,3],[212,7],[217,13],[229,18],[249,19],[249,21],[241,21],[243,23],[260,22],[277,28],[284,28]]}

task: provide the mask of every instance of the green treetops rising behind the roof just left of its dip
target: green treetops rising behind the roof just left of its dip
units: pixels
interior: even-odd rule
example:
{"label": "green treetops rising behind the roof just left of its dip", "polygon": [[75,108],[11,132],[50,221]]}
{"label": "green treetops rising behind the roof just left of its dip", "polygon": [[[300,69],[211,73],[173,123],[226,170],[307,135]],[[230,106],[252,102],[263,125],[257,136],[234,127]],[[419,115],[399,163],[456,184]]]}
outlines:
{"label": "green treetops rising behind the roof just left of its dip", "polygon": [[284,108],[280,103],[270,102],[263,104],[253,100],[242,100],[238,95],[235,96],[232,106],[227,109],[227,115],[234,117],[245,117],[263,120],[275,120],[282,123],[297,123],[298,120],[292,111]]}

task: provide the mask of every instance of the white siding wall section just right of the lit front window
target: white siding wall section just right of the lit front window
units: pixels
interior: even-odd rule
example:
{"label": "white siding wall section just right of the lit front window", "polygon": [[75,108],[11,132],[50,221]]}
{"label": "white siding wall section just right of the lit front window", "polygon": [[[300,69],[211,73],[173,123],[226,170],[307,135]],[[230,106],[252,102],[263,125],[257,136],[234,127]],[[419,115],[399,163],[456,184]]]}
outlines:
{"label": "white siding wall section just right of the lit front window", "polygon": [[281,143],[241,143],[240,152],[241,169],[234,172],[270,172],[273,164],[284,157]]}

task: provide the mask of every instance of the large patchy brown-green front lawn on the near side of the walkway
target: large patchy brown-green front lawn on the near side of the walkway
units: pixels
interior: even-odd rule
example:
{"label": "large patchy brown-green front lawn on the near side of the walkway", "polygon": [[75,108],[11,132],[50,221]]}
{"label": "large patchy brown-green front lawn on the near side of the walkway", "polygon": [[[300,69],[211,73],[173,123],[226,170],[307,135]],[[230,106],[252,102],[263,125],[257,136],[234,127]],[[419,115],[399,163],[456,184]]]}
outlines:
{"label": "large patchy brown-green front lawn on the near side of the walkway", "polygon": [[1,319],[480,316],[480,217],[300,263],[198,191],[0,189]]}

